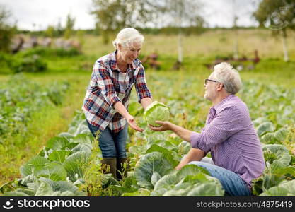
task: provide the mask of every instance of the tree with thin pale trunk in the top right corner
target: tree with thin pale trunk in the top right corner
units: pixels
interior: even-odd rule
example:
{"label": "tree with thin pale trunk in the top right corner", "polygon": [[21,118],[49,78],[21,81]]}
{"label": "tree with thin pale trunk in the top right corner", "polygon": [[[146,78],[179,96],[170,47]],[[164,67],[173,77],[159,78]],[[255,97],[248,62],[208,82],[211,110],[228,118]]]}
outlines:
{"label": "tree with thin pale trunk in the top right corner", "polygon": [[282,35],[284,61],[289,61],[287,29],[295,30],[295,0],[262,0],[253,16],[260,26],[270,28],[274,35]]}

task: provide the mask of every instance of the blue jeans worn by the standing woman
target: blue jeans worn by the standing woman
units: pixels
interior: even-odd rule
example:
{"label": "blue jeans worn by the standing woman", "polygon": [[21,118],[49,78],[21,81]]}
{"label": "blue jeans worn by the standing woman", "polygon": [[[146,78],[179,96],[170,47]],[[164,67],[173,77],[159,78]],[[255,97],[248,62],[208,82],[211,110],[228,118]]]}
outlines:
{"label": "blue jeans worn by the standing woman", "polygon": [[[96,138],[98,127],[88,124],[91,134]],[[103,158],[127,158],[126,141],[128,138],[128,124],[117,133],[112,133],[108,126],[101,132],[98,138],[98,145]]]}

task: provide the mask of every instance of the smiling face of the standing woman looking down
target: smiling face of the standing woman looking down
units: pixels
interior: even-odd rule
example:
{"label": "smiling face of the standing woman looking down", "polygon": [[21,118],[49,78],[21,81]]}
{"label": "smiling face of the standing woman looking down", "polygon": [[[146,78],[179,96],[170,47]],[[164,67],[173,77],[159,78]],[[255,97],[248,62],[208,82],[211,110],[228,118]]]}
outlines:
{"label": "smiling face of the standing woman looking down", "polygon": [[134,59],[139,56],[141,46],[141,42],[131,42],[127,47],[119,45],[118,50],[120,54],[120,59],[122,59],[122,61],[127,64],[132,64],[132,61],[134,61]]}

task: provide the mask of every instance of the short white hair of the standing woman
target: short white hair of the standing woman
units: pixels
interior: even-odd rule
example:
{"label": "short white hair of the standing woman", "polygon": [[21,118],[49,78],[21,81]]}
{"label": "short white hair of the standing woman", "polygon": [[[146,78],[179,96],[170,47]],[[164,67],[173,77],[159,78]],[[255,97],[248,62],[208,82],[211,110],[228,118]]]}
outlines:
{"label": "short white hair of the standing woman", "polygon": [[129,47],[132,42],[144,42],[144,35],[141,35],[139,31],[134,28],[124,28],[120,30],[117,37],[112,41],[112,45],[117,49],[117,45],[122,45],[123,47]]}

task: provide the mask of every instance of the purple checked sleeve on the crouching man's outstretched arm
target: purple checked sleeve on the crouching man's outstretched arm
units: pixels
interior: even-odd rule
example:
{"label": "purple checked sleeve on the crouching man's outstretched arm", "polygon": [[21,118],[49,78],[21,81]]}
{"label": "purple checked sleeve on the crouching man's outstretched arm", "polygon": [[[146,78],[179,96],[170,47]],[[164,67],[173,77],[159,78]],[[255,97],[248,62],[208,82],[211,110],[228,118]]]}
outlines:
{"label": "purple checked sleeve on the crouching man's outstretched arm", "polygon": [[225,108],[216,114],[216,117],[202,129],[201,133],[193,132],[190,135],[192,148],[199,148],[208,153],[216,144],[226,141],[240,131],[239,122],[238,113],[231,107]]}

